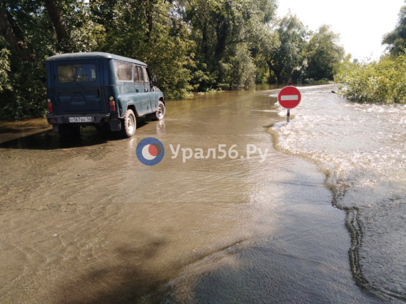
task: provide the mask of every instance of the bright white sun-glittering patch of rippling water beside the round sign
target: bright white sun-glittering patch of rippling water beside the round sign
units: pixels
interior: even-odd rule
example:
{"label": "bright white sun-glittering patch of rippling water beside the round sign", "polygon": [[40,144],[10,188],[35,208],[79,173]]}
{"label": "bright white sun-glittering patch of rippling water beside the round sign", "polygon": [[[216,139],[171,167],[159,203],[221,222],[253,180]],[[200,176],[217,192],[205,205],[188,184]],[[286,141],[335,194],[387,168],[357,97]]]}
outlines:
{"label": "bright white sun-glittering patch of rippling water beside the round sign", "polygon": [[[277,146],[319,164],[332,186],[372,187],[374,192],[384,186],[380,193],[387,197],[394,182],[405,182],[406,107],[353,104],[329,88],[334,89],[303,89],[303,103],[292,110],[295,120],[272,128]],[[371,195],[365,195],[363,201],[370,203]]]}

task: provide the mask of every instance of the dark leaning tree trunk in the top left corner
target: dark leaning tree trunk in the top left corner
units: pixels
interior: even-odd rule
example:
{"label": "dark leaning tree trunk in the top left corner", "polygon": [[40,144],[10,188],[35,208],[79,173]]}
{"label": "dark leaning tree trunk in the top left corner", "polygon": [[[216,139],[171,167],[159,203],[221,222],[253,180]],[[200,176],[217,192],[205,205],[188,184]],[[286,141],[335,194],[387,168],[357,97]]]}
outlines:
{"label": "dark leaning tree trunk in the top left corner", "polygon": [[17,52],[24,61],[32,61],[34,59],[34,54],[28,50],[23,36],[19,34],[21,30],[15,23],[10,12],[8,12],[6,8],[3,8],[3,6],[0,6],[0,32],[12,50]]}

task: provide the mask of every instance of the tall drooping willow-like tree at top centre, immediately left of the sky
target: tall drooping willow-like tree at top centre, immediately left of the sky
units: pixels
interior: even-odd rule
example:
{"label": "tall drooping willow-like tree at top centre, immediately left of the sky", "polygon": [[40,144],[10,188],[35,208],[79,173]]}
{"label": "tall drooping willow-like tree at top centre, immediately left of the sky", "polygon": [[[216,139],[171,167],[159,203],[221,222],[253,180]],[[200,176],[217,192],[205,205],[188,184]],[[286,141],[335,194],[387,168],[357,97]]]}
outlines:
{"label": "tall drooping willow-like tree at top centre, immediately left of the sky", "polygon": [[[276,1],[183,0],[180,3],[179,12],[191,25],[191,39],[196,42],[197,70],[194,75],[197,77],[194,79],[205,82],[200,89],[213,84],[225,88],[244,87],[243,83],[233,83],[236,78],[228,67],[237,57],[241,58],[244,47],[252,61],[253,36],[257,28],[273,19]],[[195,87],[199,87],[198,84]]]}

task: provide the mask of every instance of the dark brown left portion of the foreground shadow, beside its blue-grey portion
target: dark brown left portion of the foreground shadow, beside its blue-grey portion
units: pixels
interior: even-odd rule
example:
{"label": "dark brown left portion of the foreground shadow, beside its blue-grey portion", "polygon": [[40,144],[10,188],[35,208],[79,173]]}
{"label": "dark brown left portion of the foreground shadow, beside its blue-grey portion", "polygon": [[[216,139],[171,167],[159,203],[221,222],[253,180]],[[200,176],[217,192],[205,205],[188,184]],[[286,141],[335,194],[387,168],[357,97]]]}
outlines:
{"label": "dark brown left portion of the foreground shadow, beside its blue-grey portion", "polygon": [[[167,245],[163,239],[152,239],[140,248],[118,247],[111,252],[120,260],[87,265],[74,279],[63,279],[52,296],[57,303],[155,303],[155,294],[169,280],[168,272],[155,272],[147,264],[162,254]],[[137,261],[142,260],[140,265]],[[123,263],[123,261],[125,261]],[[69,273],[70,270],[67,270]],[[154,295],[155,294],[155,295]]]}

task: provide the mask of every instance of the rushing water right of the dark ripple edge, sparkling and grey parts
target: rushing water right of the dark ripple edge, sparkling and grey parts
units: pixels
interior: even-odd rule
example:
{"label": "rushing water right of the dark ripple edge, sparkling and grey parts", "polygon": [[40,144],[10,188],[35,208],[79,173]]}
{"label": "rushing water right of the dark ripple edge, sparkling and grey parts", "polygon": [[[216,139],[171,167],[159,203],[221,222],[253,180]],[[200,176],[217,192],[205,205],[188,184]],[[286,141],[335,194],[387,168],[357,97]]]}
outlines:
{"label": "rushing water right of the dark ripple edge, sparkling and grey parts", "polygon": [[334,85],[301,88],[294,119],[270,132],[277,149],[319,165],[334,205],[356,212],[357,283],[406,298],[406,246],[398,241],[406,230],[406,106],[349,102],[333,91]]}

